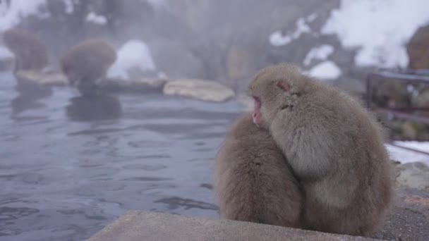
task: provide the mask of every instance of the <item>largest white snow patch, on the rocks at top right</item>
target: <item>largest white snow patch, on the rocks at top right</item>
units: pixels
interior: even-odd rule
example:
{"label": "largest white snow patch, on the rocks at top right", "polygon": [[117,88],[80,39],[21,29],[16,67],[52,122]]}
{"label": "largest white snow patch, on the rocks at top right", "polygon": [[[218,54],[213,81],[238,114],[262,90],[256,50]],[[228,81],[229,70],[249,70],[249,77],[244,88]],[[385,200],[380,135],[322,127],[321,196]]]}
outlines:
{"label": "largest white snow patch, on the rocks at top right", "polygon": [[406,67],[405,44],[429,23],[428,0],[342,0],[322,27],[346,48],[359,48],[357,66]]}

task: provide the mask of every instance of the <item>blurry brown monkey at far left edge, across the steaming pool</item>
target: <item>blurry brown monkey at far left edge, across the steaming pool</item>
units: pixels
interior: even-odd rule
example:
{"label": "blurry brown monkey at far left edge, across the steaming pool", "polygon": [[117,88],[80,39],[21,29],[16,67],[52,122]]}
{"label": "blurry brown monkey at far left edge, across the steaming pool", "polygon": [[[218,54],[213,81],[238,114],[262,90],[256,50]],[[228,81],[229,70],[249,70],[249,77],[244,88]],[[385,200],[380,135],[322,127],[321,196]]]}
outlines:
{"label": "blurry brown monkey at far left edge, across the steaming pool", "polygon": [[18,70],[42,70],[48,65],[49,55],[46,45],[30,32],[6,30],[3,33],[3,41],[15,56],[15,73]]}

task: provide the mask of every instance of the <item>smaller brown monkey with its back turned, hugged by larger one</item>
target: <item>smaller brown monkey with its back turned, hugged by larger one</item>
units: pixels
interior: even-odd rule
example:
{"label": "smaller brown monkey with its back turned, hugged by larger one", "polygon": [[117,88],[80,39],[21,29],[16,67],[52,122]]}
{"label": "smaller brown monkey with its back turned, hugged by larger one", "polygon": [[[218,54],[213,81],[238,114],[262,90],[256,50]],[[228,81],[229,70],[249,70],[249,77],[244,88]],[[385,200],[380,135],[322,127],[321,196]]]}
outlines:
{"label": "smaller brown monkey with its back turned, hugged by larger one", "polygon": [[220,217],[300,227],[301,190],[284,155],[251,113],[234,124],[219,149],[214,171]]}

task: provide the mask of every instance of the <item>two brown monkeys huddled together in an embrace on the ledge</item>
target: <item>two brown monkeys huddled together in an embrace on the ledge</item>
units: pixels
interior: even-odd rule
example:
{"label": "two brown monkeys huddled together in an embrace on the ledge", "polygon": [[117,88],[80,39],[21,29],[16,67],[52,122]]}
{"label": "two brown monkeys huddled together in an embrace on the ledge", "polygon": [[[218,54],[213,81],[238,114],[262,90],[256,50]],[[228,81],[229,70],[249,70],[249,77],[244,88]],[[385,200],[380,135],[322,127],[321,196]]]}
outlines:
{"label": "two brown monkeys huddled together in an embrace on the ledge", "polygon": [[358,101],[287,64],[250,82],[214,173],[221,218],[373,235],[392,206],[382,128]]}

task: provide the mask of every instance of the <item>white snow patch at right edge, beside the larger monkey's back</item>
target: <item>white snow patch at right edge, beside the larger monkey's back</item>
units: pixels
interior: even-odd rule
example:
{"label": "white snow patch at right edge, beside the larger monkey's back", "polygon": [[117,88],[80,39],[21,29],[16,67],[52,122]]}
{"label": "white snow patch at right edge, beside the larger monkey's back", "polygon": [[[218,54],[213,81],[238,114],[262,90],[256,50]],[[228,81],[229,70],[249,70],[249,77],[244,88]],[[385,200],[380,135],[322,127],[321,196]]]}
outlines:
{"label": "white snow patch at right edge, beside the larger monkey's back", "polygon": [[[419,149],[424,152],[429,151],[429,142],[394,142],[394,144]],[[390,158],[395,161],[399,161],[401,163],[420,161],[429,166],[429,155],[413,152],[401,147],[395,147],[391,144],[386,144],[385,146],[387,148],[387,152],[389,152]]]}

